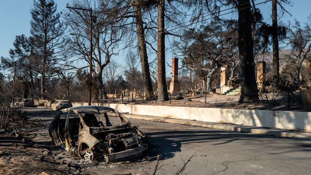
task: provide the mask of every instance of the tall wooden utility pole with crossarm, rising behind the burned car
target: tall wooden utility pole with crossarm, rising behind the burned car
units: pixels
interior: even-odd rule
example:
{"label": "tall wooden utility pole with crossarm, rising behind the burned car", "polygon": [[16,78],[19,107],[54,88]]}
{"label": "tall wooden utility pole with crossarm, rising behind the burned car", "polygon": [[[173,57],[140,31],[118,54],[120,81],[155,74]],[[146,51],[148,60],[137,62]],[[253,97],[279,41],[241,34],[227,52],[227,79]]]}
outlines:
{"label": "tall wooden utility pole with crossarm, rising behind the burned car", "polygon": [[84,8],[77,8],[77,7],[70,7],[67,4],[67,8],[69,8],[70,10],[86,10],[90,12],[90,31],[89,31],[89,42],[90,42],[90,49],[89,49],[89,89],[88,89],[88,105],[91,105],[91,101],[92,101],[92,52],[93,52],[93,44],[92,44],[92,30],[93,30],[93,18],[92,18],[92,8],[90,9],[84,9]]}

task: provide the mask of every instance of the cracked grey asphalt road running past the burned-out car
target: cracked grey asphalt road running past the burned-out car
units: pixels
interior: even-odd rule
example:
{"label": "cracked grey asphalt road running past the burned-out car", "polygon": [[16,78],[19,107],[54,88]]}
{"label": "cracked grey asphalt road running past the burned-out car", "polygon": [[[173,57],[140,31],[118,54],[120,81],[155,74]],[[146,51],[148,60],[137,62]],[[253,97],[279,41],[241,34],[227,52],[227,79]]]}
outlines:
{"label": "cracked grey asphalt road running past the burned-out car", "polygon": [[[27,116],[51,120],[51,109],[27,108]],[[279,139],[188,125],[130,119],[149,137],[144,161],[97,166],[91,174],[175,175],[192,154],[183,175],[310,175],[311,142]],[[148,160],[148,161],[145,161]]]}

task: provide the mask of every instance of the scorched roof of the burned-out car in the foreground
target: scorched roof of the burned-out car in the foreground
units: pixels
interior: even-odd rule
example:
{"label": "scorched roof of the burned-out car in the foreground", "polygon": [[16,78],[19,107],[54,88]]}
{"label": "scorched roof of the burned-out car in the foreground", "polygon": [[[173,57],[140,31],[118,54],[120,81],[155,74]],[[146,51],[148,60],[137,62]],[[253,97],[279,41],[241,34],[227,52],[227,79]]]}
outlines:
{"label": "scorched roof of the burned-out car in the foreground", "polygon": [[95,106],[95,105],[89,105],[89,106],[76,106],[76,107],[69,107],[66,109],[62,109],[62,112],[70,112],[73,111],[76,114],[104,114],[109,111],[115,111],[115,109],[111,107],[105,107],[105,106]]}

